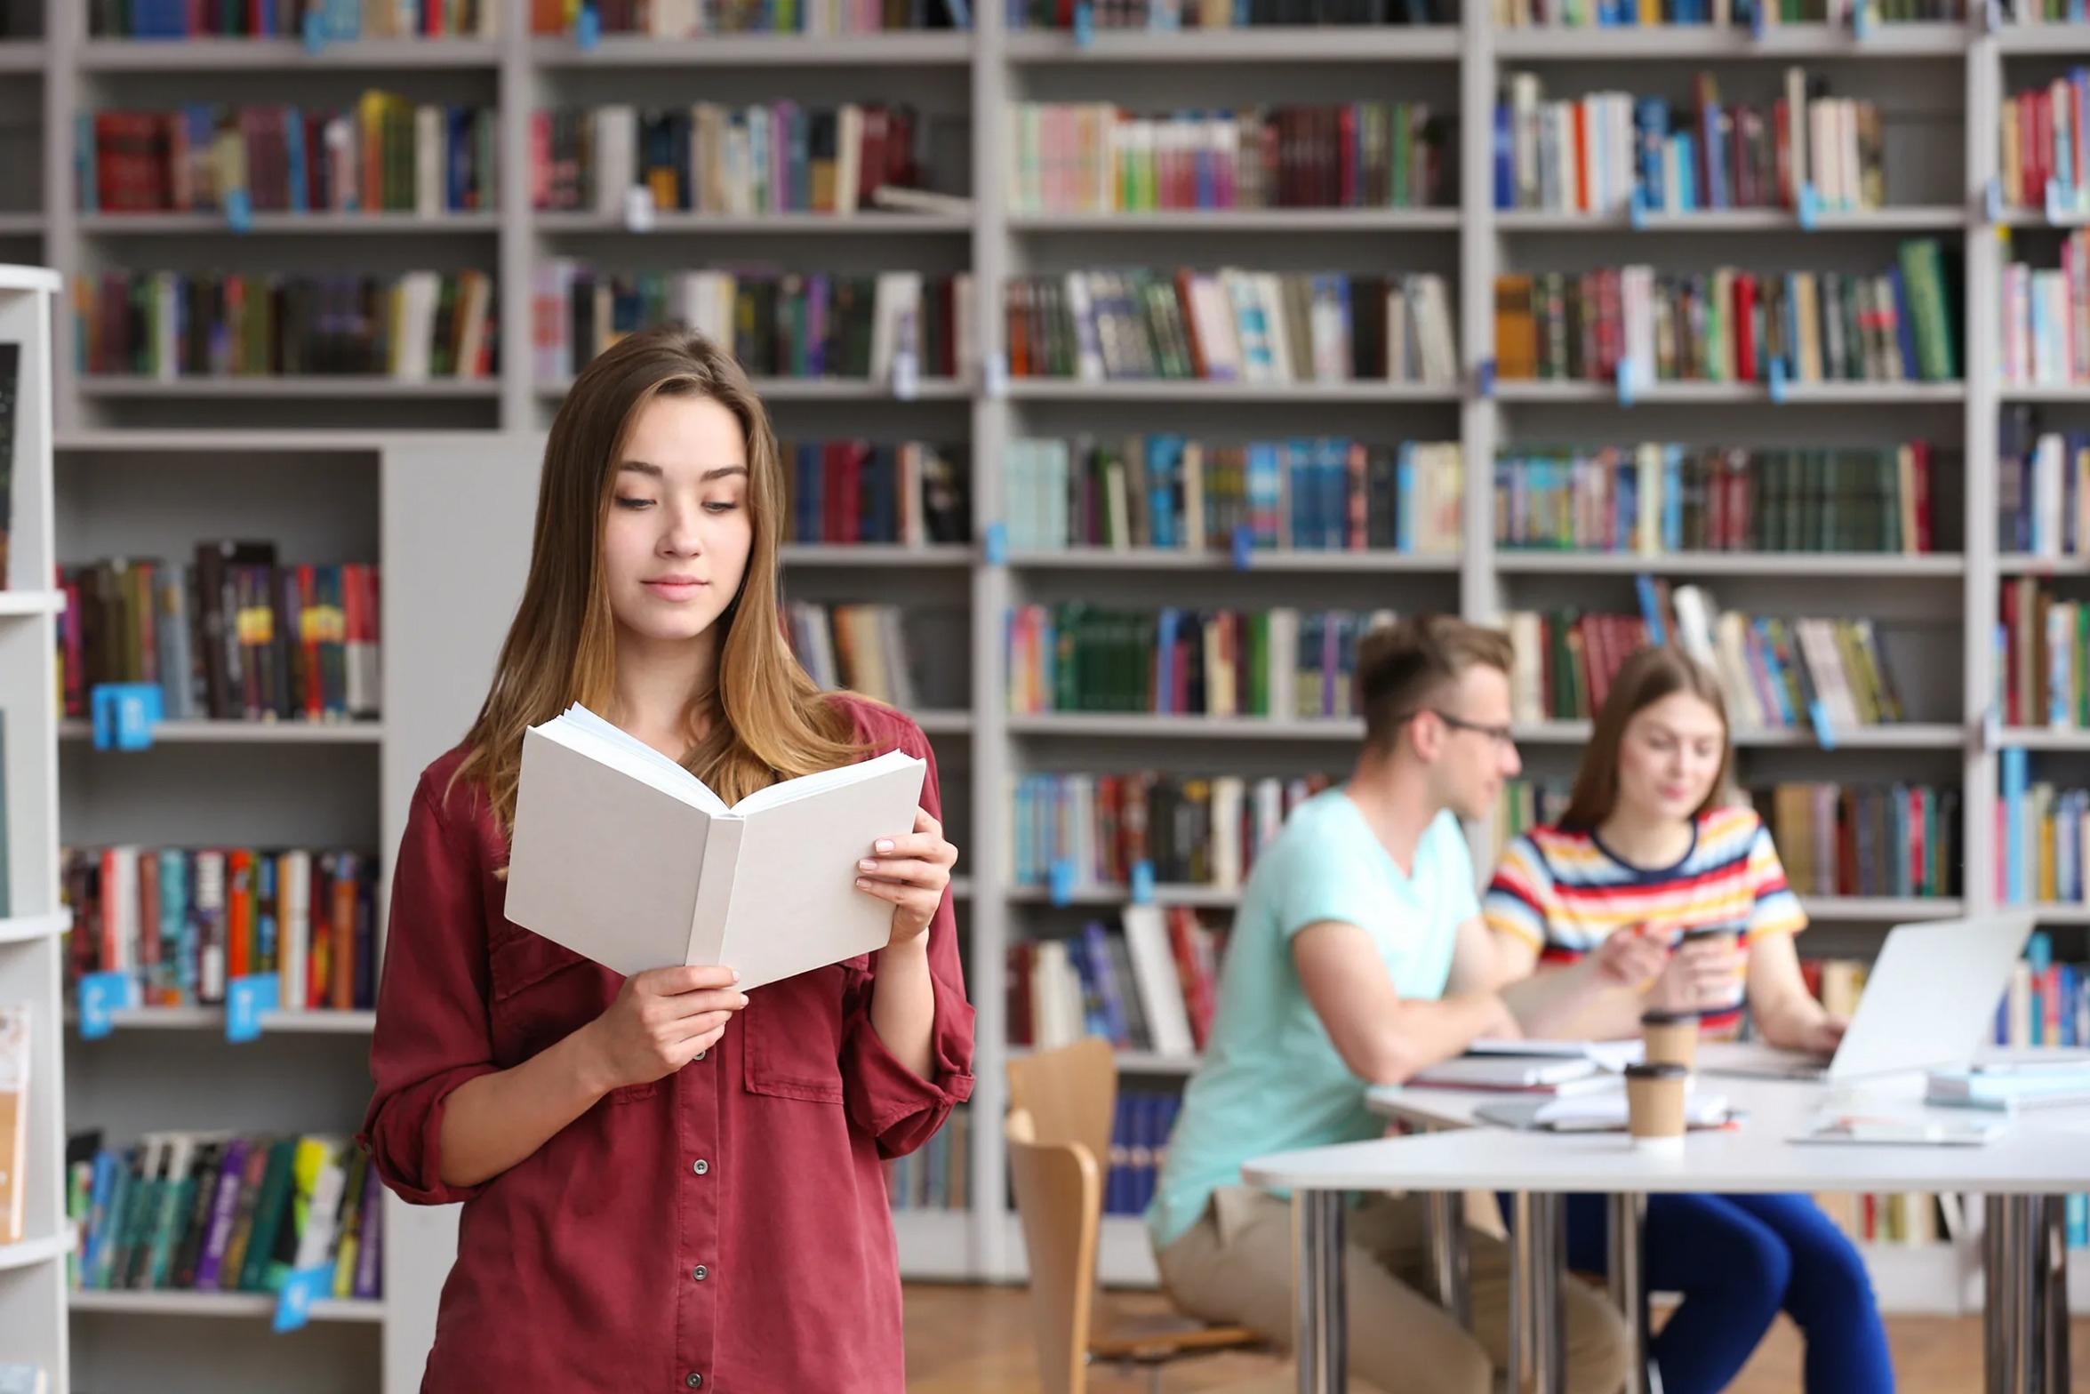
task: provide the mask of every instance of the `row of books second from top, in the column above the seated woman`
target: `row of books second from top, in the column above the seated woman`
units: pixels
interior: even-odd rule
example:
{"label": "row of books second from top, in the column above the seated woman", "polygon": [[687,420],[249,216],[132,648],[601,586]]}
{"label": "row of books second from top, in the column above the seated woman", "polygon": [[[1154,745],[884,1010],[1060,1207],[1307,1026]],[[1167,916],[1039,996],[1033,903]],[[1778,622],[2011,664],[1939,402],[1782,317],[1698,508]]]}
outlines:
{"label": "row of books second from top, in the column above the seated woman", "polygon": [[1513,73],[1494,109],[1499,209],[1791,209],[1812,188],[1822,211],[1858,211],[1885,203],[1879,107],[1827,96],[1797,67],[1762,107],[1722,102],[1712,73],[1689,107],[1630,92],[1545,100],[1536,73]]}

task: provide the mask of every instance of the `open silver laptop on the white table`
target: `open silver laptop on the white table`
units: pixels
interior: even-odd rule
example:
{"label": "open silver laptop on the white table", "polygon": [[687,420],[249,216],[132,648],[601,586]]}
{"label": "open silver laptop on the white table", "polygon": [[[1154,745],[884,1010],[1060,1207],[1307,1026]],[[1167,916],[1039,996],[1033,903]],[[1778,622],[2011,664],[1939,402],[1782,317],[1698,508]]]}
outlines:
{"label": "open silver laptop on the white table", "polygon": [[1864,993],[1835,1055],[1768,1045],[1703,1045],[1703,1074],[1845,1081],[1967,1064],[1990,1043],[1996,1005],[2031,938],[2034,915],[1900,924],[1864,978]]}

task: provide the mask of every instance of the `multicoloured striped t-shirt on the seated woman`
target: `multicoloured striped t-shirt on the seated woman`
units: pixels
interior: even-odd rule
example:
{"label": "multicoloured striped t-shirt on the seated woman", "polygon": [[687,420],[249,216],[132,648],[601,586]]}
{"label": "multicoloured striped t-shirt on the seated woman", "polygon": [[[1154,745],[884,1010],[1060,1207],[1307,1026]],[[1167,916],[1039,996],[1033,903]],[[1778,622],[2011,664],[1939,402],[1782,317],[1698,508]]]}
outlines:
{"label": "multicoloured striped t-shirt on the seated woman", "polygon": [[[1634,924],[1733,926],[1743,953],[1751,938],[1808,926],[1770,830],[1745,807],[1701,813],[1682,859],[1655,869],[1622,861],[1593,832],[1532,828],[1503,851],[1482,911],[1490,930],[1515,934],[1549,963],[1574,963],[1611,930]],[[1739,1020],[1735,1007],[1708,1012],[1701,1024],[1726,1032]]]}

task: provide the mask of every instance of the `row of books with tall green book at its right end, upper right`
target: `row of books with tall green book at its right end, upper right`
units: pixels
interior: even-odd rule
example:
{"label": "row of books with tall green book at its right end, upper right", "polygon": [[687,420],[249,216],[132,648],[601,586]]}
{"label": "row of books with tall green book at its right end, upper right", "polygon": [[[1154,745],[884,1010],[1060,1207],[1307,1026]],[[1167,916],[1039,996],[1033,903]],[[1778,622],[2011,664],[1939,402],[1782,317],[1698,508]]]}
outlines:
{"label": "row of books with tall green book at its right end, upper right", "polygon": [[1950,382],[1958,339],[1944,245],[1914,238],[1879,276],[1597,272],[1496,276],[1503,378],[1659,382]]}

